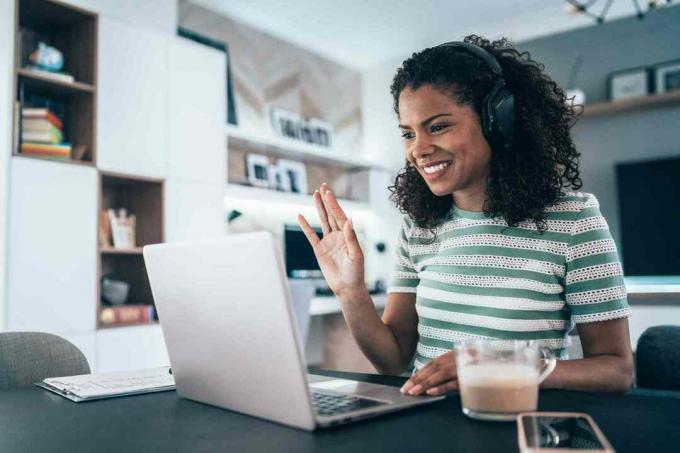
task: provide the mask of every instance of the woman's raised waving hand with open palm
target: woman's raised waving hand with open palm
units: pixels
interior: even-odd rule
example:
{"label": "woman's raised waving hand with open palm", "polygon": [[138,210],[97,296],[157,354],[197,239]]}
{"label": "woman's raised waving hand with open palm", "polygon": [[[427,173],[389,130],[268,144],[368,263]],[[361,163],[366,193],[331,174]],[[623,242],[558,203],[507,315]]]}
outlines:
{"label": "woman's raised waving hand with open palm", "polygon": [[312,245],[328,286],[339,298],[366,291],[364,254],[352,220],[347,218],[326,183],[314,192],[314,204],[321,220],[323,238],[317,236],[304,216],[298,215],[298,222]]}

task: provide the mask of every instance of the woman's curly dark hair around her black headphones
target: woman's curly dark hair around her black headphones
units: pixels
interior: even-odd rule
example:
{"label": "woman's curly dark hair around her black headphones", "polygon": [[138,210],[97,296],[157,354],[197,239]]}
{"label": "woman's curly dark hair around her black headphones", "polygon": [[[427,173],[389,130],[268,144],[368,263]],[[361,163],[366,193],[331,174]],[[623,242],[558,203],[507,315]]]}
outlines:
{"label": "woman's curly dark hair around her black headphones", "polygon": [[[515,134],[510,150],[491,149],[484,212],[502,217],[509,226],[533,220],[539,232],[547,229],[545,208],[564,195],[563,188],[580,189],[579,152],[570,136],[580,110],[544,72],[544,66],[519,52],[506,39],[493,42],[469,35],[496,57],[508,90],[515,96]],[[399,116],[399,95],[405,88],[431,85],[463,105],[472,105],[481,118],[482,100],[493,87],[491,70],[479,58],[453,47],[432,47],[414,53],[397,69],[390,90]],[[453,206],[451,195],[434,195],[408,161],[389,187],[390,199],[417,225],[433,229]]]}

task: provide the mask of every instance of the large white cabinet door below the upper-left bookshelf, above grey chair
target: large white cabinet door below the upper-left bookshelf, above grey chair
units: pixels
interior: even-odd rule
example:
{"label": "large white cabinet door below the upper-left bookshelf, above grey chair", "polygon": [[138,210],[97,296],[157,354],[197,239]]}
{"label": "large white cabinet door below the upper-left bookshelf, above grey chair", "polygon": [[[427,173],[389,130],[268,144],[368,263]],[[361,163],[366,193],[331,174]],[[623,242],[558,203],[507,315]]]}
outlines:
{"label": "large white cabinet door below the upper-left bookshelf, above grey chair", "polygon": [[94,168],[12,158],[9,330],[94,329],[96,233]]}

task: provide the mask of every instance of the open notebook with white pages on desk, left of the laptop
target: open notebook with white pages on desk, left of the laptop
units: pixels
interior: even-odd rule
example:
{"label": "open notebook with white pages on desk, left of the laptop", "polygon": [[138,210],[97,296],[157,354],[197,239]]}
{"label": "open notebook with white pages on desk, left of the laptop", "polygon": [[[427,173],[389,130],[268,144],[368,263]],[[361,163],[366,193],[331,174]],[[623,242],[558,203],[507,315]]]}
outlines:
{"label": "open notebook with white pages on desk, left of the laptop", "polygon": [[35,385],[79,403],[81,401],[174,390],[175,379],[170,367],[159,367],[115,373],[47,378],[41,382],[36,382]]}

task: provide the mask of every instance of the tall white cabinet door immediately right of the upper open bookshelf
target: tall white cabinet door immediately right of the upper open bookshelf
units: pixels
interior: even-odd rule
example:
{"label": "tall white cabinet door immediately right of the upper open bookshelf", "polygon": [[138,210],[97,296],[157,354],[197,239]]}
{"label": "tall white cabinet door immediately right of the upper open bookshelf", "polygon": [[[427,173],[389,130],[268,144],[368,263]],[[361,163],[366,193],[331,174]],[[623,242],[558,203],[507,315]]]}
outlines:
{"label": "tall white cabinet door immediately right of the upper open bookshelf", "polygon": [[97,166],[164,177],[166,39],[99,20]]}

